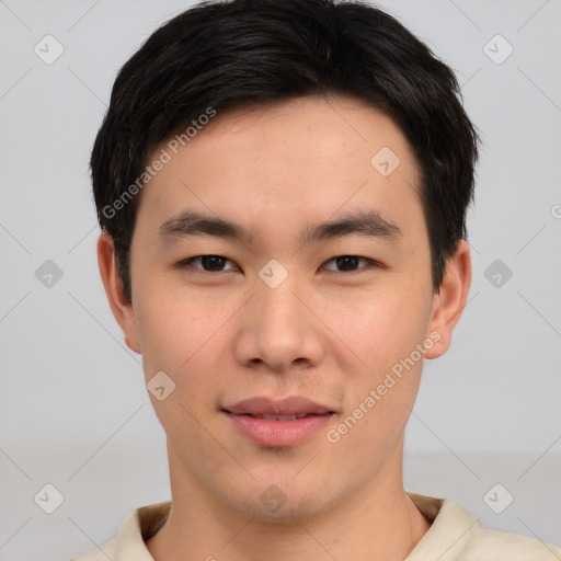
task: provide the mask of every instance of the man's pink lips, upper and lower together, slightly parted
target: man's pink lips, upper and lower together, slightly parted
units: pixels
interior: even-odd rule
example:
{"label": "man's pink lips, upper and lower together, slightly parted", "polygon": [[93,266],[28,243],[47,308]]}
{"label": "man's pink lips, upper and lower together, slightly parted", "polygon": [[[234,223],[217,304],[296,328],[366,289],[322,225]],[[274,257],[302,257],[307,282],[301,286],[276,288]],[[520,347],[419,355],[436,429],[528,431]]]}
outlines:
{"label": "man's pink lips, upper and lower together, slightly parted", "polygon": [[[283,400],[251,398],[221,410],[233,426],[261,446],[296,446],[324,428],[335,412],[304,397]],[[252,415],[308,415],[301,419],[274,420]]]}

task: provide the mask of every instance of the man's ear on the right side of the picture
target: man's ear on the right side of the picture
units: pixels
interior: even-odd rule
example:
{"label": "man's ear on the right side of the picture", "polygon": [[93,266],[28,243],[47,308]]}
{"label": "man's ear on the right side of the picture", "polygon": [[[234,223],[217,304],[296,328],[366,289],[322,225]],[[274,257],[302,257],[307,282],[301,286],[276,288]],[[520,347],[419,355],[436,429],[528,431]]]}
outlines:
{"label": "man's ear on the right side of the picture", "polygon": [[468,242],[460,240],[456,253],[446,262],[440,289],[433,295],[428,333],[433,333],[431,339],[435,344],[425,353],[425,358],[436,358],[448,351],[451,332],[466,307],[470,285],[471,253]]}

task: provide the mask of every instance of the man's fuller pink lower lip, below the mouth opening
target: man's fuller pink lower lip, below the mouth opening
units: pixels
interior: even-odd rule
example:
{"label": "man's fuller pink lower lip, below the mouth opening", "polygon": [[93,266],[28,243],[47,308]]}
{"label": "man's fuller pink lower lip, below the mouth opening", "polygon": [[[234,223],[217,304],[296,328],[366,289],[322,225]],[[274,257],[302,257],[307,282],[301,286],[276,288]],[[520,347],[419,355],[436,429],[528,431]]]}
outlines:
{"label": "man's fuller pink lower lip, below the mouth opening", "polygon": [[250,415],[234,415],[228,412],[226,414],[231,419],[236,428],[254,443],[274,447],[300,444],[317,431],[324,428],[333,416],[333,414],[310,415],[289,421],[275,421]]}

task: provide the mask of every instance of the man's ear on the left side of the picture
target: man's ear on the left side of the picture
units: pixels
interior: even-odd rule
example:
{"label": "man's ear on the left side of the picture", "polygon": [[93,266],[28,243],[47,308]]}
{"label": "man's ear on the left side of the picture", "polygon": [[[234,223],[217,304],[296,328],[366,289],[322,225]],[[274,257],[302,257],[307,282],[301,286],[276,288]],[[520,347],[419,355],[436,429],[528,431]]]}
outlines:
{"label": "man's ear on the left side of the picture", "polygon": [[98,239],[98,265],[105,287],[111,311],[125,334],[125,343],[135,353],[140,354],[133,305],[125,297],[123,282],[118,274],[113,238],[102,232]]}

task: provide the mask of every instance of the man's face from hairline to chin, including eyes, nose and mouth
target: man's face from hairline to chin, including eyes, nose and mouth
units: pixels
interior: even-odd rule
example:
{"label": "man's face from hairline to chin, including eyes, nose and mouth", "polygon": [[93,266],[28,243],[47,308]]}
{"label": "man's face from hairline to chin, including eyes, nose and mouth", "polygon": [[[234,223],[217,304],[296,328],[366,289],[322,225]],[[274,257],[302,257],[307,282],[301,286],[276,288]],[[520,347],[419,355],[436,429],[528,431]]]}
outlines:
{"label": "man's face from hairline to chin, including eyes, nose and mouth", "polygon": [[176,152],[142,193],[116,313],[160,388],[172,489],[287,520],[400,481],[423,358],[465,300],[433,295],[403,135],[302,98],[218,113]]}

